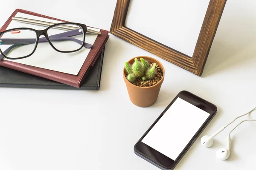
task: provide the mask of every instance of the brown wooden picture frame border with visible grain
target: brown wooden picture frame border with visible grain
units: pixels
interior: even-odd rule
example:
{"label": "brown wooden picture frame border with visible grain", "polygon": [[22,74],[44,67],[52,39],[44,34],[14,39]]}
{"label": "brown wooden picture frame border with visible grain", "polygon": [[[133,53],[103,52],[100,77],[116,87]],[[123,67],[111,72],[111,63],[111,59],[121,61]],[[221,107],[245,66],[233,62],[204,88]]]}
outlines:
{"label": "brown wooden picture frame border with visible grain", "polygon": [[[201,76],[227,0],[210,0],[192,57],[125,26],[130,0],[117,0],[110,33]],[[164,18],[162,18],[164,20]]]}

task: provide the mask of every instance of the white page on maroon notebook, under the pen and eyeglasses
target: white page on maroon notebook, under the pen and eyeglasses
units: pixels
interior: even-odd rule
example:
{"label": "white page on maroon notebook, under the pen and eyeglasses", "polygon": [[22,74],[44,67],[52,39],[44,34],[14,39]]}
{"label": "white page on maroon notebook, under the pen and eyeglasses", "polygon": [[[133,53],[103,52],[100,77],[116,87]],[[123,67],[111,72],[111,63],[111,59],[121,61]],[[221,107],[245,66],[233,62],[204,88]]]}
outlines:
{"label": "white page on maroon notebook, under the pen and eyeglasses", "polygon": [[[47,18],[37,17],[29,14],[23,14],[20,12],[18,12],[15,17],[42,20],[42,21],[47,21],[52,23],[61,23],[60,21],[50,20]],[[83,23],[83,24],[86,24],[86,23]],[[6,28],[6,30],[11,28],[18,28],[18,27],[28,27],[28,28],[34,28],[37,30],[43,30],[47,28],[44,26],[35,26],[35,25],[20,23],[12,20],[9,26]],[[95,31],[100,31],[100,29],[96,29],[96,28],[90,28],[90,29]],[[86,34],[85,42],[93,45],[97,36],[98,36],[97,34]],[[44,36],[41,36],[41,37],[44,37]],[[2,38],[11,38],[11,37],[3,36]],[[27,57],[25,59],[16,59],[16,60],[6,59],[6,58],[4,59],[12,62],[18,62],[25,65],[32,65],[39,68],[45,68],[53,71],[59,71],[67,74],[77,75],[82,65],[84,64],[84,61],[88,56],[89,52],[90,52],[90,49],[83,47],[80,51],[77,51],[74,53],[60,53],[58,51],[55,51],[49,45],[48,42],[45,42],[45,43],[38,43],[38,47],[35,53],[30,57]]]}

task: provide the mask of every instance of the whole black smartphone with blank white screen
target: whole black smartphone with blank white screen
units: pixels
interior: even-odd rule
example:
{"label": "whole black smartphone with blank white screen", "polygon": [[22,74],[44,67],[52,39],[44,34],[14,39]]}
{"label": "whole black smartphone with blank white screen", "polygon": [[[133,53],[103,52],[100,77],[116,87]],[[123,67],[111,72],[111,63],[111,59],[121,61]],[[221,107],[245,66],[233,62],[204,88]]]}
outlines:
{"label": "whole black smartphone with blank white screen", "polygon": [[135,144],[135,154],[162,170],[173,170],[216,112],[212,103],[181,91]]}

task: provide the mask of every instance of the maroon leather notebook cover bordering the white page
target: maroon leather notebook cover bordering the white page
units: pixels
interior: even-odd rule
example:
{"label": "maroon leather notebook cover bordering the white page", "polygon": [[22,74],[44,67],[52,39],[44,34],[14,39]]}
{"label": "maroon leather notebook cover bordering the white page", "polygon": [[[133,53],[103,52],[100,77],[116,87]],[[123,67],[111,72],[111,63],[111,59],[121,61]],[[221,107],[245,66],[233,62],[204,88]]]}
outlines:
{"label": "maroon leather notebook cover bordering the white page", "polygon": [[[30,15],[34,15],[34,16],[39,16],[39,17],[44,17],[44,18],[48,18],[48,19],[52,19],[52,20],[57,20],[57,21],[61,21],[61,22],[67,22],[64,20],[59,20],[59,19],[48,17],[45,15],[36,14],[34,12],[25,11],[22,9],[16,9],[13,12],[13,14],[9,17],[9,19],[6,21],[6,23],[3,25],[3,27],[0,29],[0,32],[5,30],[8,27],[8,25],[12,21],[12,17],[15,17],[15,15],[18,12],[24,13],[24,14],[30,14]],[[66,85],[76,87],[76,88],[80,88],[81,82],[83,82],[88,69],[91,68],[95,64],[96,60],[98,59],[99,55],[102,52],[102,49],[105,46],[105,43],[108,40],[108,37],[109,37],[108,31],[100,29],[100,32],[102,34],[97,36],[96,41],[93,44],[93,48],[91,48],[87,58],[84,61],[84,64],[82,65],[82,67],[77,75],[66,74],[66,73],[52,71],[52,70],[48,70],[48,69],[44,69],[44,68],[38,68],[38,67],[31,66],[31,65],[20,64],[15,61],[8,61],[8,60],[1,60],[0,66],[6,67],[6,68],[11,68],[11,69],[21,71],[24,73],[32,74],[32,75],[35,75],[38,77],[43,77],[45,79],[53,80],[55,82],[60,82],[60,83],[66,84]]]}

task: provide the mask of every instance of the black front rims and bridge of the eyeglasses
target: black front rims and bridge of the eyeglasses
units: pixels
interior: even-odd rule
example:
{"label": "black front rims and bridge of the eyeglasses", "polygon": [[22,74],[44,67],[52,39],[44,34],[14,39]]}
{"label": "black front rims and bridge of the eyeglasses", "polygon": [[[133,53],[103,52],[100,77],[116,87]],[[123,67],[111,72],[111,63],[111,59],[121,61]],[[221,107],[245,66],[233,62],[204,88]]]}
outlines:
{"label": "black front rims and bridge of the eyeglasses", "polygon": [[[78,48],[78,49],[76,49],[76,50],[73,50],[73,51],[61,51],[61,50],[58,50],[57,48],[54,47],[54,45],[52,44],[51,40],[49,39],[49,36],[48,36],[48,34],[47,34],[47,31],[48,31],[50,28],[53,28],[53,27],[59,26],[59,25],[77,25],[77,26],[79,26],[79,27],[82,28],[84,38],[83,38],[83,42],[82,42],[82,45],[81,45],[80,48]],[[78,28],[78,29],[80,29],[80,28]],[[1,38],[1,36],[2,36],[3,34],[5,34],[6,32],[17,31],[17,30],[30,30],[30,31],[35,31],[36,36],[37,36],[37,37],[36,37],[36,42],[35,42],[35,48],[34,48],[34,50],[32,51],[31,54],[26,55],[26,56],[24,56],[24,57],[17,57],[17,58],[10,58],[10,57],[7,57],[7,56],[3,53],[3,51],[1,50],[1,48],[0,48],[0,53],[3,55],[3,57],[5,57],[5,58],[7,58],[7,59],[23,59],[23,58],[27,58],[27,57],[32,56],[32,55],[35,53],[35,50],[36,50],[36,48],[37,48],[37,46],[38,46],[38,41],[39,41],[39,38],[40,38],[41,35],[44,35],[44,36],[45,36],[45,38],[47,39],[47,41],[49,42],[49,44],[52,46],[52,48],[53,48],[55,51],[58,51],[58,52],[60,52],[60,53],[73,53],[73,52],[79,51],[79,50],[81,50],[81,49],[84,47],[84,44],[85,44],[84,40],[85,40],[85,34],[86,34],[86,32],[87,32],[87,26],[86,26],[85,24],[81,24],[81,23],[70,23],[70,22],[67,22],[67,23],[57,23],[57,24],[54,24],[54,25],[52,25],[52,26],[47,27],[47,28],[44,29],[44,30],[36,30],[36,29],[33,29],[33,28],[26,28],[26,27],[12,28],[12,29],[8,29],[8,30],[5,30],[5,31],[3,31],[3,32],[0,32],[0,38]]]}

